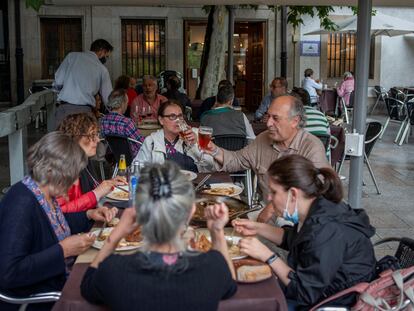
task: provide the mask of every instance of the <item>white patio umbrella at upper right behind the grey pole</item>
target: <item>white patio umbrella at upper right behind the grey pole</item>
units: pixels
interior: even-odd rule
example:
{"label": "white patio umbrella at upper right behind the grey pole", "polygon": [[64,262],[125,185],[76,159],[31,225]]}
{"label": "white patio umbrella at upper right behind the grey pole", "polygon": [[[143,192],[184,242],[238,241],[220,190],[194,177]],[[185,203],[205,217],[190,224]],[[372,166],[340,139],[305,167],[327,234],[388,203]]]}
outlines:
{"label": "white patio umbrella at upper right behind the grey pole", "polygon": [[[337,23],[337,30],[318,29],[305,35],[322,35],[329,33],[356,33],[357,16],[352,16]],[[414,33],[414,23],[377,12],[371,17],[371,35],[373,36],[401,36]]]}

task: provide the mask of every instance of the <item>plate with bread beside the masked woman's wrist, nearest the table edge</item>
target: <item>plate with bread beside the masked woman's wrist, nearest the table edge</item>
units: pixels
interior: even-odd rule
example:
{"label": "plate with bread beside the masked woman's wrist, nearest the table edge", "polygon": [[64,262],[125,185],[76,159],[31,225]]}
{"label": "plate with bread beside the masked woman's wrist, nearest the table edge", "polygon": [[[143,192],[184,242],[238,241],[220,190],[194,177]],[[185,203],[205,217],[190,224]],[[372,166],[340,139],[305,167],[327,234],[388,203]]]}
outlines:
{"label": "plate with bread beside the masked woman's wrist, nearest the table edge", "polygon": [[236,279],[239,283],[257,283],[269,279],[272,269],[269,265],[252,258],[233,261]]}

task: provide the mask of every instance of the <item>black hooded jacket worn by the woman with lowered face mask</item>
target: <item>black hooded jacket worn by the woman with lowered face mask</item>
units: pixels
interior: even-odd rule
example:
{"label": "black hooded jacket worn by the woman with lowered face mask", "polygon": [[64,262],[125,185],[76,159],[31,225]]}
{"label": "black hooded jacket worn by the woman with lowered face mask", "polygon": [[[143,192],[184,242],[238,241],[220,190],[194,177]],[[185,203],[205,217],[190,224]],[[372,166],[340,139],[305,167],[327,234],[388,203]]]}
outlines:
{"label": "black hooded jacket worn by the woman with lowered face mask", "polygon": [[[302,228],[284,228],[282,247],[289,250],[291,282],[286,297],[308,309],[356,283],[371,281],[375,254],[370,237],[375,229],[364,210],[353,210],[323,197],[311,205]],[[336,305],[352,303],[347,296]]]}

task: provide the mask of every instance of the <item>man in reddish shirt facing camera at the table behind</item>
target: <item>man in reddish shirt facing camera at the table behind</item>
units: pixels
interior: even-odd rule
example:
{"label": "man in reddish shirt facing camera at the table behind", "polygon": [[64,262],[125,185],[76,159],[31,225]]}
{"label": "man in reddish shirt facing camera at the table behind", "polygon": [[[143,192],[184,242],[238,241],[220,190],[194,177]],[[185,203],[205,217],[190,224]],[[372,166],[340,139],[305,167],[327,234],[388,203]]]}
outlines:
{"label": "man in reddish shirt facing camera at the table behind", "polygon": [[131,118],[135,124],[141,123],[142,119],[157,120],[160,104],[168,99],[157,94],[158,82],[153,76],[144,76],[142,83],[143,93],[139,94],[131,104]]}

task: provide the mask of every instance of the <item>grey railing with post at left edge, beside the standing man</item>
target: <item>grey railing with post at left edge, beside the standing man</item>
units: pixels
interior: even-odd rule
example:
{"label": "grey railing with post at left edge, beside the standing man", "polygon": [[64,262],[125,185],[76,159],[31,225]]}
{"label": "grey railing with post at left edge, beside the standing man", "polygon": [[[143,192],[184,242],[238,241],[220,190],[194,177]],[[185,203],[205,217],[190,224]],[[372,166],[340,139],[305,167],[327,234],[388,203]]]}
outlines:
{"label": "grey railing with post at left edge, beside the standing man", "polygon": [[56,94],[45,90],[30,95],[16,107],[0,112],[0,137],[8,136],[10,184],[23,179],[26,173],[27,126],[40,110],[46,109],[47,131],[54,130]]}

